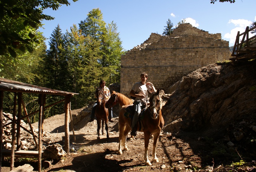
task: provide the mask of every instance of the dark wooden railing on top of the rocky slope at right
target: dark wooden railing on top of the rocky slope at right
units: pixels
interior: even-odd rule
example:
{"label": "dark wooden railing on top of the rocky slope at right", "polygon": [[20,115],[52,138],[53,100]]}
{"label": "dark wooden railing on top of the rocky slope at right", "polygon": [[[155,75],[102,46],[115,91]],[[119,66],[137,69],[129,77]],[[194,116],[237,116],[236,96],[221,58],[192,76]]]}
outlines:
{"label": "dark wooden railing on top of the rocky slope at right", "polygon": [[[249,29],[249,26],[246,27],[245,32],[240,34],[240,31],[237,32],[237,36],[236,36],[236,40],[235,40],[235,45],[234,45],[234,49],[232,52],[233,57],[237,57],[239,55],[243,55],[245,53],[249,53],[252,50],[256,50],[255,46],[251,47],[250,45],[255,43],[255,41],[250,42],[251,40],[256,38],[256,35],[254,35],[253,37],[249,38],[249,32],[251,32],[252,30],[256,29],[256,26],[254,26],[253,28]],[[241,42],[239,43],[240,40],[240,36],[243,36],[243,38],[241,39]],[[245,40],[246,38],[246,40]],[[243,45],[245,44],[244,48],[242,49]]]}

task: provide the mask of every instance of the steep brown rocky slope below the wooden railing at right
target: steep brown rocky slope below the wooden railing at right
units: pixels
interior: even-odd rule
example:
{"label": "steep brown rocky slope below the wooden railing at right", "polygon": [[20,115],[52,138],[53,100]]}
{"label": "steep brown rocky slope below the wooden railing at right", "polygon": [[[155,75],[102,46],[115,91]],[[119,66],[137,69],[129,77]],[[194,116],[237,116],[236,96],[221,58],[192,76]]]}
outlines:
{"label": "steep brown rocky slope below the wooden railing at right", "polygon": [[163,108],[164,131],[226,130],[242,120],[253,125],[256,117],[256,63],[211,64],[170,86]]}

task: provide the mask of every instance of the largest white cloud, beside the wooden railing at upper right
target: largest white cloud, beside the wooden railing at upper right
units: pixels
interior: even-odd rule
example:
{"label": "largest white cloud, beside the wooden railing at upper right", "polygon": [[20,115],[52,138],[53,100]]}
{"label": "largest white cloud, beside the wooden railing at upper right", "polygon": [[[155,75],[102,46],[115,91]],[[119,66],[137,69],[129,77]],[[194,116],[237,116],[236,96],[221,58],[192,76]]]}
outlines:
{"label": "largest white cloud, beside the wooden railing at upper right", "polygon": [[[256,18],[256,16],[255,16]],[[229,46],[234,46],[235,44],[235,40],[236,40],[236,35],[237,35],[237,32],[240,31],[240,34],[243,33],[246,29],[246,26],[250,26],[252,24],[251,21],[249,20],[244,20],[244,19],[238,19],[238,20],[229,20],[228,24],[234,24],[234,26],[238,26],[234,29],[232,29],[230,31],[230,33],[226,33],[224,35],[224,38],[227,39],[227,41],[229,41]],[[252,37],[253,34],[249,33],[249,37]],[[242,36],[240,36],[240,39],[242,39]]]}

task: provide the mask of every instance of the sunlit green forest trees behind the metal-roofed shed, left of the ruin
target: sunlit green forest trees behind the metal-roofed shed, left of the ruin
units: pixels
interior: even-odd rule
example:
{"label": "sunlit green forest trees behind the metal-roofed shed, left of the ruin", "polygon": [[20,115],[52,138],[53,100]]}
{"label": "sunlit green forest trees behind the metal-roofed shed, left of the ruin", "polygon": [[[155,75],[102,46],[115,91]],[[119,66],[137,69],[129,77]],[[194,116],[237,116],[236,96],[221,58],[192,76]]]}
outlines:
{"label": "sunlit green forest trees behind the metal-roofed shed, left of the ruin", "polygon": [[[57,9],[57,6],[54,8]],[[95,88],[99,86],[100,80],[106,80],[106,85],[120,82],[121,54],[125,52],[116,23],[106,25],[99,9],[90,11],[79,26],[78,29],[73,25],[70,31],[62,34],[58,25],[51,34],[48,50],[45,38],[36,32],[41,44],[33,47],[33,52],[18,54],[16,51],[16,58],[10,58],[10,55],[0,56],[0,61],[5,64],[0,64],[0,76],[79,93],[71,98],[72,108],[85,106],[94,99]],[[4,92],[4,111],[12,111],[13,97],[14,93]],[[29,114],[38,110],[37,94],[23,93],[22,99]],[[61,96],[47,95],[45,106],[62,99]],[[63,103],[45,109],[44,116],[48,118],[60,113],[63,113]],[[38,121],[38,113],[29,118],[32,123]]]}

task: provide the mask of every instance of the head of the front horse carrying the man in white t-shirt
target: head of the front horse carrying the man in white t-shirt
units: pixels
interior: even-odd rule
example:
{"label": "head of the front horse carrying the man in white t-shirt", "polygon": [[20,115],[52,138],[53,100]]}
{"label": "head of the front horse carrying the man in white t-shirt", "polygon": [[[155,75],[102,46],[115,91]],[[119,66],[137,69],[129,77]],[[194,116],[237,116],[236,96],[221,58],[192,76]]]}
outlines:
{"label": "head of the front horse carrying the man in white t-shirt", "polygon": [[152,118],[156,119],[159,115],[159,112],[162,109],[162,99],[159,96],[159,89],[157,89],[157,92],[152,92],[150,94],[149,98],[149,111],[151,112]]}

